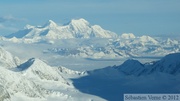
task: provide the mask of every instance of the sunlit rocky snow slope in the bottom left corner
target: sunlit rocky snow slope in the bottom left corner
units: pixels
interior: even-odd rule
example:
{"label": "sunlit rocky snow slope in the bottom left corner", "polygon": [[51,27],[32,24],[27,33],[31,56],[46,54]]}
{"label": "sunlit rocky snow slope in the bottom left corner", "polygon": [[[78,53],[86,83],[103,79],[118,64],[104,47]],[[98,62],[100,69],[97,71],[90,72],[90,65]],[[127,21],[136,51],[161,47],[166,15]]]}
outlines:
{"label": "sunlit rocky snow slope in the bottom left corner", "polygon": [[[26,77],[3,67],[0,67],[0,71],[0,99],[9,98],[9,94],[13,95],[17,92],[29,97],[43,96],[42,92],[44,92],[44,90]],[[2,96],[3,98],[1,98]]]}

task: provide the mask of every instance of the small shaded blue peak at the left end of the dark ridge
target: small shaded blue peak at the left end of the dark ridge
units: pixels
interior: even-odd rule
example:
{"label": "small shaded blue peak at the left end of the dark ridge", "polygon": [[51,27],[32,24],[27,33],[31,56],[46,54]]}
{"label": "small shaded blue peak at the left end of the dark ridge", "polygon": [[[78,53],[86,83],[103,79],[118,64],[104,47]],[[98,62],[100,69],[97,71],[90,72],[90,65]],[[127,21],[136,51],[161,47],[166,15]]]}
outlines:
{"label": "small shaded blue peak at the left end of the dark ridge", "polygon": [[140,75],[145,69],[144,65],[137,60],[127,60],[122,65],[116,67],[119,71],[127,75]]}

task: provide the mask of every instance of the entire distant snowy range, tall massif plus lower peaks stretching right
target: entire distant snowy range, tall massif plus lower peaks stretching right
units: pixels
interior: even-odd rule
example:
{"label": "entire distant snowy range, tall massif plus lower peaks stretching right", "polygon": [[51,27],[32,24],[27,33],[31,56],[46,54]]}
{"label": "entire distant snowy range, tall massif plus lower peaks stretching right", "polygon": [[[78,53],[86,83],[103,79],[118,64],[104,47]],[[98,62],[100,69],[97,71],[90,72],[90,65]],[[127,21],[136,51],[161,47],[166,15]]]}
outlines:
{"label": "entire distant snowy range, tall massif plus lower peaks stretching right", "polygon": [[[96,59],[161,57],[180,52],[179,40],[135,36],[133,33],[118,35],[98,25],[91,26],[83,18],[73,19],[64,25],[58,25],[52,20],[42,26],[27,25],[18,32],[1,37],[0,40],[26,44],[54,44],[53,48],[45,49],[43,52]],[[59,43],[61,46],[57,45]]]}

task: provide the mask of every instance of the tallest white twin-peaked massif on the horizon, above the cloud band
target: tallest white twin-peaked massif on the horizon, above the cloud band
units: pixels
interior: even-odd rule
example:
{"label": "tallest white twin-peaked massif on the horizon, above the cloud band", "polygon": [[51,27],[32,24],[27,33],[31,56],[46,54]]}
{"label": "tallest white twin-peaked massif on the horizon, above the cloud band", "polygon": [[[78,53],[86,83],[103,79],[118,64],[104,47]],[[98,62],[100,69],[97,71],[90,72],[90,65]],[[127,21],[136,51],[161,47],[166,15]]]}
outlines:
{"label": "tallest white twin-peaked massif on the horizon, above the cloud band", "polygon": [[69,38],[114,38],[114,32],[104,30],[99,25],[91,26],[85,19],[73,19],[69,23],[59,26],[49,20],[43,26],[27,25],[24,29],[6,36],[7,38],[26,39],[69,39]]}

